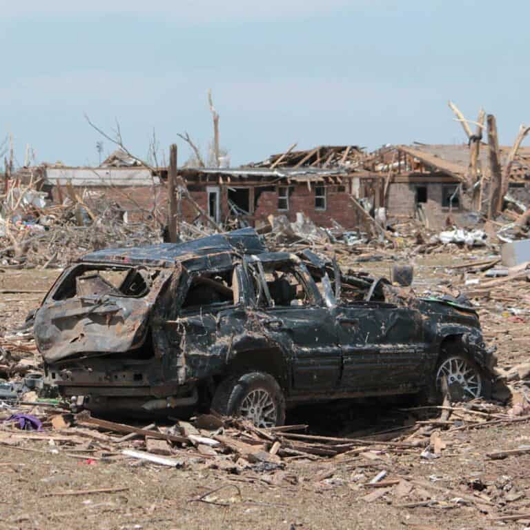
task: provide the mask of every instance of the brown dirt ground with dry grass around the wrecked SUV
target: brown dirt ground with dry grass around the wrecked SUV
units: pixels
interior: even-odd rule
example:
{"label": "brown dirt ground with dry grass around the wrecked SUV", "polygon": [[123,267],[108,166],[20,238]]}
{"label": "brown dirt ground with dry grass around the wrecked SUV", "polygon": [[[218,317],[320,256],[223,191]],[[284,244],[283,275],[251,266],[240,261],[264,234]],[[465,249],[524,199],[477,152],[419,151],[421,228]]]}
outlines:
{"label": "brown dirt ground with dry grass around the wrecked SUV", "polygon": [[[415,258],[415,289],[445,282],[462,283],[446,267],[486,259],[487,251],[444,253]],[[373,274],[388,275],[391,262],[364,263]],[[9,270],[0,273],[0,323],[3,335],[21,324],[37,306],[57,271]],[[526,290],[525,290],[526,292]],[[527,297],[520,295],[521,300]],[[517,298],[517,297],[516,297]],[[480,308],[484,334],[498,345],[503,368],[527,360],[528,311],[511,300],[489,301]],[[397,405],[355,404],[348,420],[317,407],[311,433],[353,435],[399,428],[410,413]],[[300,411],[298,412],[300,414]],[[298,419],[288,415],[287,423]],[[302,411],[302,415],[304,412]],[[322,416],[325,418],[322,418]],[[307,418],[306,414],[306,418]],[[326,421],[325,421],[326,420]],[[336,421],[335,421],[336,420]],[[333,429],[335,431],[333,432]],[[47,430],[49,430],[47,428]],[[524,529],[530,527],[530,453],[491,460],[487,453],[530,444],[530,424],[500,424],[484,429],[441,431],[446,449],[439,458],[422,458],[422,449],[357,453],[315,462],[289,460],[282,471],[267,473],[216,469],[217,460],[177,450],[179,469],[132,464],[110,451],[90,460],[50,442],[0,445],[1,529]],[[414,493],[397,487],[366,488],[380,471],[386,479],[417,481]],[[236,471],[236,472],[233,472]],[[419,482],[418,482],[419,481]],[[422,482],[423,481],[423,482]],[[423,485],[422,485],[423,484]],[[112,493],[61,495],[90,489],[123,488]],[[218,489],[217,491],[215,491]],[[380,491],[380,498],[367,495]],[[202,500],[199,497],[211,492]],[[403,494],[402,494],[403,493]],[[469,502],[473,496],[475,502]],[[413,506],[414,504],[414,506]],[[502,516],[527,513],[518,521]]]}

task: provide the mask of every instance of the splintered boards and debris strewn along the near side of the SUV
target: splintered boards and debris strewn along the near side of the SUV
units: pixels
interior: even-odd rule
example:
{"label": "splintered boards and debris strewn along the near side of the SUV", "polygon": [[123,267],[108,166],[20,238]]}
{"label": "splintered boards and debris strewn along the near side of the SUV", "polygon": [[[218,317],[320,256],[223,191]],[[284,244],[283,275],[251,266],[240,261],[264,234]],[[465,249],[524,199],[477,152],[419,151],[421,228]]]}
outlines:
{"label": "splintered boards and debris strewn along the near side of the SUV", "polygon": [[[409,462],[433,464],[445,457],[454,462],[467,451],[463,436],[476,429],[497,429],[529,420],[513,409],[475,400],[467,403],[401,409],[405,425],[364,438],[334,438],[306,434],[304,424],[258,429],[253,424],[218,415],[199,415],[190,422],[143,427],[74,415],[54,400],[26,395],[26,404],[3,402],[0,411],[0,446],[41,453],[48,458],[68,457],[84,464],[148,465],[174,469],[208,469],[232,484],[258,482],[271,487],[297,485],[333,489],[347,485],[367,503],[385,502],[397,508],[433,509],[468,506],[490,518],[517,520],[527,514],[524,493],[509,477],[464,476],[447,478],[415,475]],[[35,399],[35,402],[29,400]],[[429,411],[440,411],[433,418]],[[414,418],[411,421],[411,418]],[[408,423],[408,424],[407,424]],[[501,449],[482,455],[487,461],[530,453],[528,446]],[[412,460],[411,460],[412,459]],[[300,464],[313,466],[311,478],[300,475]],[[61,495],[114,493],[117,488],[62,491]],[[213,491],[192,500],[227,505]]]}

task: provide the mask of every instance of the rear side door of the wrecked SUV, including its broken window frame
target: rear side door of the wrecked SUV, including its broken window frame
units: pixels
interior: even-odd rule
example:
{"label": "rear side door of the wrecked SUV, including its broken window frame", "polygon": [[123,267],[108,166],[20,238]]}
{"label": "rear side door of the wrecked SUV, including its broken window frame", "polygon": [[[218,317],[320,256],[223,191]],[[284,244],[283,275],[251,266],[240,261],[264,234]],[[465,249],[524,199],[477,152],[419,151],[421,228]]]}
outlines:
{"label": "rear side door of the wrecked SUV, including its broken window frame", "polygon": [[[336,391],[342,360],[334,315],[324,306],[304,264],[293,257],[281,259],[271,254],[251,266],[262,284],[262,291],[266,293],[265,303],[259,306],[259,321],[271,342],[280,344],[287,353],[293,395]],[[284,300],[276,297],[275,300],[274,293],[269,292],[273,291],[273,284],[278,279],[267,282],[265,275],[279,271],[291,277],[291,289],[300,289],[297,298],[291,302],[288,297]],[[280,278],[284,279],[285,276]]]}

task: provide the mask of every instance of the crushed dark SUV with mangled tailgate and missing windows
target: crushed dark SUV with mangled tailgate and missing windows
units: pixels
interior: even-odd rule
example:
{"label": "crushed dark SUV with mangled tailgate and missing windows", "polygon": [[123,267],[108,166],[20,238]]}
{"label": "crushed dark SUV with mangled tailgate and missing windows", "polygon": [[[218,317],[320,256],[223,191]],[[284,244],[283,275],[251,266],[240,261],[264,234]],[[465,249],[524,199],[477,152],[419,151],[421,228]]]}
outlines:
{"label": "crushed dark SUV with mangled tailgate and missing windows", "polygon": [[487,396],[495,364],[472,306],[269,252],[253,228],[85,255],[34,333],[46,383],[77,409],[212,409],[262,427],[303,402],[435,399],[444,383]]}

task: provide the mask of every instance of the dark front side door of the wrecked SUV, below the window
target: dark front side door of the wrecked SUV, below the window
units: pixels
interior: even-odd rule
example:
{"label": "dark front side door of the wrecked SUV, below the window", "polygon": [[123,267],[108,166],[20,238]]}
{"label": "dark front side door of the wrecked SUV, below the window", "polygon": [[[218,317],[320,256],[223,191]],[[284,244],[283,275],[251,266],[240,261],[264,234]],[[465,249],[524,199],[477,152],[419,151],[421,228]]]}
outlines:
{"label": "dark front side door of the wrecked SUV, below the window", "polygon": [[346,391],[412,391],[424,377],[426,349],[418,311],[386,302],[337,306]]}

